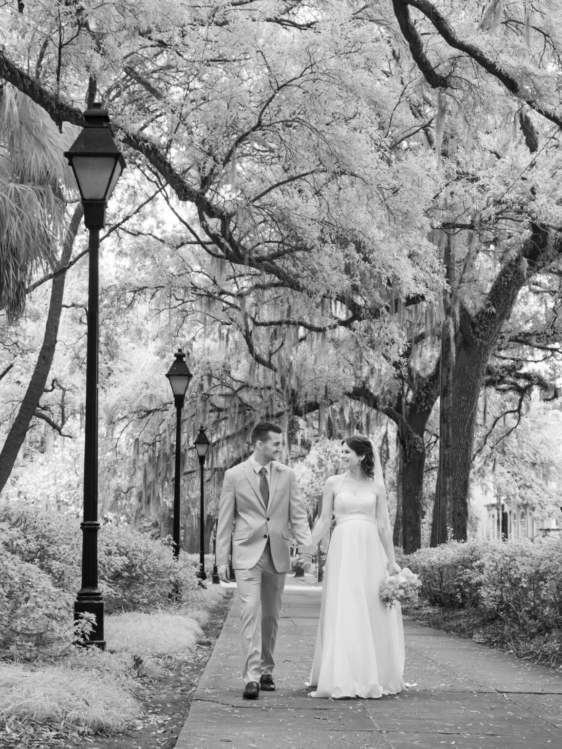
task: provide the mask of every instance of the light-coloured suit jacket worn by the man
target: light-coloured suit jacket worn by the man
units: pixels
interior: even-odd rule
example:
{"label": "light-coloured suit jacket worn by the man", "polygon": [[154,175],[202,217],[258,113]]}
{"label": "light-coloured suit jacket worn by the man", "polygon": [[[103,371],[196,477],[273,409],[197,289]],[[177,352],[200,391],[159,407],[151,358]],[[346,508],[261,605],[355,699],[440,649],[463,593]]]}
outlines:
{"label": "light-coloured suit jacket worn by the man", "polygon": [[267,509],[249,458],[226,471],[216,530],[217,565],[228,564],[232,538],[233,568],[253,567],[269,538],[275,569],[289,572],[291,531],[298,544],[311,545],[305,503],[292,468],[272,461]]}

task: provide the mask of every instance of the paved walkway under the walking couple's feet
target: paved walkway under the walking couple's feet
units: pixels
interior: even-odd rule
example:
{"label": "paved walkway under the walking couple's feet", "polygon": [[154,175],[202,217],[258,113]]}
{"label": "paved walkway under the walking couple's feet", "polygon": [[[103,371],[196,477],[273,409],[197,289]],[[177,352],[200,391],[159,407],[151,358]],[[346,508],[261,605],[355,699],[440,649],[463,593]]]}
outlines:
{"label": "paved walkway under the walking couple's feet", "polygon": [[242,700],[234,597],[177,749],[562,748],[562,673],[413,622],[404,622],[408,691],[311,699],[320,592],[313,578],[287,579],[277,691],[254,701]]}

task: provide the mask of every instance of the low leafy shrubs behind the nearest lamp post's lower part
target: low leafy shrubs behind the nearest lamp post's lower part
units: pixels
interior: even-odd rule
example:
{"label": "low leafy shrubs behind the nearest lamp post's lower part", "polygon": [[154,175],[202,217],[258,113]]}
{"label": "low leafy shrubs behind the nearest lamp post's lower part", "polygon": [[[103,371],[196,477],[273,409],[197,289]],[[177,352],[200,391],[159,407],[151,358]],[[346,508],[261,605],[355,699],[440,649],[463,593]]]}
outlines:
{"label": "low leafy shrubs behind the nearest lamp post's lower part", "polygon": [[[76,639],[73,600],[80,587],[82,539],[72,515],[22,503],[0,506],[1,649],[13,656],[57,652]],[[106,612],[153,610],[198,600],[195,565],[174,560],[169,542],[126,527],[98,534]]]}

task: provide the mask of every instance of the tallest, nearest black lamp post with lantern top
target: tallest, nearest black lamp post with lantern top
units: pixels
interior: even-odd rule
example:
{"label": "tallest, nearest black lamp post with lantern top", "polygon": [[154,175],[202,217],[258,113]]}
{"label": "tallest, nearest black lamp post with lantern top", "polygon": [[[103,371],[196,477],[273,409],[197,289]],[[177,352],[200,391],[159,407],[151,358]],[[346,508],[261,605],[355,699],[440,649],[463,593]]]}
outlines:
{"label": "tallest, nearest black lamp post with lantern top", "polygon": [[86,344],[86,413],[84,446],[84,521],[82,588],[76,595],[74,618],[91,613],[96,624],[88,643],[105,649],[103,598],[97,583],[97,374],[100,230],[106,225],[107,201],[125,167],[123,155],[109,132],[109,115],[100,103],[84,112],[82,133],[64,156],[73,169],[84,206],[88,240],[88,337]]}

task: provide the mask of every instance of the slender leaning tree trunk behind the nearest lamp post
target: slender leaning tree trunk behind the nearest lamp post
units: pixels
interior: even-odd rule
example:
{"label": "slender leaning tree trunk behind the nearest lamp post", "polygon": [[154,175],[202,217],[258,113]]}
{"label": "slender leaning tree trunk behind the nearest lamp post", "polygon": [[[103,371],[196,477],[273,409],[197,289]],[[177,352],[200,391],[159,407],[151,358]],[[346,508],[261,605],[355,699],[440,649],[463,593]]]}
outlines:
{"label": "slender leaning tree trunk behind the nearest lamp post", "polygon": [[[80,222],[84,211],[82,204],[76,207],[67,235],[64,239],[63,251],[59,267],[64,267],[70,261],[74,240],[78,233]],[[49,312],[43,336],[43,344],[37,357],[37,363],[31,380],[29,380],[28,389],[23,396],[22,404],[19,407],[16,419],[8,432],[2,451],[0,452],[0,491],[6,485],[16,462],[19,449],[25,440],[25,434],[28,432],[29,424],[35,413],[43,390],[45,389],[47,378],[51,370],[52,360],[55,356],[55,346],[57,344],[58,324],[61,320],[62,300],[64,296],[64,280],[66,273],[61,273],[52,279],[51,299],[49,302]]]}

